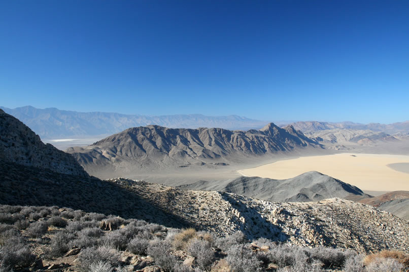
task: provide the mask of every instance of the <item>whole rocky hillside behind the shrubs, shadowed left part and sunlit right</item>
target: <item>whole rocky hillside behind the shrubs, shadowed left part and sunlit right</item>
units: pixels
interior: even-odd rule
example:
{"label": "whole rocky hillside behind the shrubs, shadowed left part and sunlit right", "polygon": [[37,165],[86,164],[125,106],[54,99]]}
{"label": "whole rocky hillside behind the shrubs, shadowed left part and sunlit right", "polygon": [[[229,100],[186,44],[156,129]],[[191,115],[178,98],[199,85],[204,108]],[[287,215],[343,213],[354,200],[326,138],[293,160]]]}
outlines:
{"label": "whole rocky hillside behind the shrubs, shadowed left part and sunlit right", "polygon": [[407,221],[338,198],[274,203],[129,179],[79,179],[13,163],[0,164],[0,175],[0,204],[71,207],[165,226],[191,226],[218,236],[241,230],[249,239],[265,237],[300,246],[408,250]]}

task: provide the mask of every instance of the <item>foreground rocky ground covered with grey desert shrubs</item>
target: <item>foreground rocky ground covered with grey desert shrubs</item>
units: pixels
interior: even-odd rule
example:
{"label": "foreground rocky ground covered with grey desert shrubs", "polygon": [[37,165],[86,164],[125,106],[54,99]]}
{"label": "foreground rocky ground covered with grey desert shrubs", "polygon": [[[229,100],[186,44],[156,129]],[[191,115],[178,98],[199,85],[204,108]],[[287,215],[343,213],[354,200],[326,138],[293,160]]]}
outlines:
{"label": "foreground rocky ground covered with grey desert shrubs", "polygon": [[403,272],[409,268],[409,255],[403,252],[365,257],[347,249],[290,243],[249,241],[241,231],[217,238],[192,228],[167,228],[56,206],[0,205],[2,272]]}

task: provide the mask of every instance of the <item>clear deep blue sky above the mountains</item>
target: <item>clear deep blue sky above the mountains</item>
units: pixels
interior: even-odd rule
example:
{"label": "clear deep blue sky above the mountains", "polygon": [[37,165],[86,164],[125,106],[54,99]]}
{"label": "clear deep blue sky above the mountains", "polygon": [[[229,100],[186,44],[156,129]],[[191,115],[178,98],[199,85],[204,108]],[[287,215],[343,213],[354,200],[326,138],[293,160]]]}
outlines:
{"label": "clear deep blue sky above the mountains", "polygon": [[409,120],[409,1],[2,1],[0,105]]}

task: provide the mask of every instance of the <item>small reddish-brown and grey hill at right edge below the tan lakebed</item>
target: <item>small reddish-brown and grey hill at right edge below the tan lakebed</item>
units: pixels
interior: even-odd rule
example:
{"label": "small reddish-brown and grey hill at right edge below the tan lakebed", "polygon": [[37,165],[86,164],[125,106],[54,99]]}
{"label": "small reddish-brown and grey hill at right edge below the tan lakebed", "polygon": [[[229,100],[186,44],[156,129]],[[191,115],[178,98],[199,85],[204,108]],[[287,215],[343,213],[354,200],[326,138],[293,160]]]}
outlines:
{"label": "small reddish-brown and grey hill at right edge below the tan lakebed", "polygon": [[370,199],[362,199],[359,202],[409,220],[409,191],[387,192],[384,195]]}

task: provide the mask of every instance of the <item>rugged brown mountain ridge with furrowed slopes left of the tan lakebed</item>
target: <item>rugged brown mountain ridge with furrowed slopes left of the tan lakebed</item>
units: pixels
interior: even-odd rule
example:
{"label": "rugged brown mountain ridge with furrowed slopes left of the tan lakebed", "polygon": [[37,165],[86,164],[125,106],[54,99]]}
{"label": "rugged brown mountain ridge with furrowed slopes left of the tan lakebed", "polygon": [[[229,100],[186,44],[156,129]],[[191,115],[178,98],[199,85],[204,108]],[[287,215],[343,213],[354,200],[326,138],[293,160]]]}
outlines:
{"label": "rugged brown mountain ridge with furrowed slopes left of the tan lakebed", "polygon": [[66,150],[93,175],[110,169],[112,176],[146,169],[227,165],[248,157],[319,148],[316,141],[289,126],[270,123],[261,130],[219,128],[170,129],[159,126],[130,128],[86,147]]}

